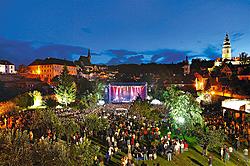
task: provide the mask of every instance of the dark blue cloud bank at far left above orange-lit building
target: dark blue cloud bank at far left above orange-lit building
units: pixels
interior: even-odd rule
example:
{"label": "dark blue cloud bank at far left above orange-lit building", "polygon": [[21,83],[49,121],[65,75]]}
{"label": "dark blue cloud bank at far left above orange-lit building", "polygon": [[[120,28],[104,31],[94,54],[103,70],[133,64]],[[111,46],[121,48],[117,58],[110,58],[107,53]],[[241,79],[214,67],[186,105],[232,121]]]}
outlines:
{"label": "dark blue cloud bank at far left above orange-lit building", "polygon": [[29,64],[36,58],[46,57],[75,60],[76,55],[82,54],[87,54],[87,48],[51,43],[36,44],[36,42],[0,38],[0,58],[10,60],[15,64]]}

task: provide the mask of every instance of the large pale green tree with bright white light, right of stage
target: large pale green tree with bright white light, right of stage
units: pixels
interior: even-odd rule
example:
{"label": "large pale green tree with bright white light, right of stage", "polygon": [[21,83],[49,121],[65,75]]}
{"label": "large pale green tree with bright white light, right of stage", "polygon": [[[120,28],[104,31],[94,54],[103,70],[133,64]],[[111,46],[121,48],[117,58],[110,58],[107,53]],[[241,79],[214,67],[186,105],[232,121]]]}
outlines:
{"label": "large pale green tree with bright white light, right of stage", "polygon": [[191,94],[172,86],[163,96],[165,105],[170,110],[170,121],[176,128],[192,129],[197,124],[203,125],[202,110]]}

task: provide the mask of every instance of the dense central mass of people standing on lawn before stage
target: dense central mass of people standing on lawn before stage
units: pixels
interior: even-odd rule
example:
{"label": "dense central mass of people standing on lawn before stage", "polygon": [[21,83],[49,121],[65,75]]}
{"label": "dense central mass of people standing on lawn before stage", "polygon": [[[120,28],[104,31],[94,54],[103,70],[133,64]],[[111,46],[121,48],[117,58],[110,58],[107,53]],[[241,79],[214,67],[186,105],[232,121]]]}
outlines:
{"label": "dense central mass of people standing on lawn before stage", "polygon": [[[188,150],[188,143],[179,138],[171,138],[171,132],[162,134],[160,128],[166,125],[162,121],[151,122],[136,116],[130,116],[126,110],[110,110],[102,112],[108,118],[110,128],[98,135],[106,140],[108,150],[105,155],[106,163],[119,151],[127,155],[122,158],[123,165],[132,165],[132,158],[138,160],[154,160],[158,154],[168,161],[174,155]],[[165,135],[165,136],[163,136]]]}

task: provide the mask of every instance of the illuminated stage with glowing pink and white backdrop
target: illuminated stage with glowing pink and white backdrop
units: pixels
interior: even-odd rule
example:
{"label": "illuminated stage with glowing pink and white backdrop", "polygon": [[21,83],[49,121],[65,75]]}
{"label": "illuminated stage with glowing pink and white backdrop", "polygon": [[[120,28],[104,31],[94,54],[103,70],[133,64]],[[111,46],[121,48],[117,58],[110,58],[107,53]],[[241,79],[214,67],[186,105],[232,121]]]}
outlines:
{"label": "illuminated stage with glowing pink and white backdrop", "polygon": [[109,103],[129,103],[147,97],[147,83],[111,83],[107,88]]}

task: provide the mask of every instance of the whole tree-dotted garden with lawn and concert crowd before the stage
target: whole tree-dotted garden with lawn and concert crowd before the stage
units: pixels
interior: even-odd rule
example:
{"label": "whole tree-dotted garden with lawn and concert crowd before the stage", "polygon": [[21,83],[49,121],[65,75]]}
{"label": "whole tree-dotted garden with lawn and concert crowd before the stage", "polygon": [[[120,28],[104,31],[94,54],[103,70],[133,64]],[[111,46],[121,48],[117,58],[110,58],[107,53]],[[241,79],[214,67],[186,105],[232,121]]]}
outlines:
{"label": "whole tree-dotted garden with lawn and concert crowd before the stage", "polygon": [[125,108],[100,104],[99,84],[82,94],[79,86],[65,68],[53,95],[0,105],[0,165],[249,164],[241,131],[210,123],[188,92],[169,87],[162,105],[137,98]]}

